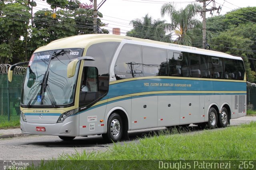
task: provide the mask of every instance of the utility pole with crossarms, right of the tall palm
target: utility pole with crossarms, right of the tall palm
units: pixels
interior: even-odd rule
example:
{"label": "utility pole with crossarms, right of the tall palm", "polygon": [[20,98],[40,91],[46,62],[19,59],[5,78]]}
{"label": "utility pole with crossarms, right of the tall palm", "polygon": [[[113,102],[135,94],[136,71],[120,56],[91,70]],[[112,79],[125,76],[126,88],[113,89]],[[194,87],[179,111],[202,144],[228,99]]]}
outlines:
{"label": "utility pole with crossarms, right of the tall palm", "polygon": [[[201,12],[201,16],[203,17],[203,48],[206,49],[206,12],[210,11],[210,14],[213,14],[212,11],[218,10],[217,13],[220,14],[219,10],[221,10],[221,7],[219,8],[215,7],[215,0],[196,0],[197,2],[202,2],[203,3],[203,10],[198,11]],[[210,4],[210,2],[206,5],[206,2],[210,1],[213,3],[212,8],[206,9],[206,6]]]}

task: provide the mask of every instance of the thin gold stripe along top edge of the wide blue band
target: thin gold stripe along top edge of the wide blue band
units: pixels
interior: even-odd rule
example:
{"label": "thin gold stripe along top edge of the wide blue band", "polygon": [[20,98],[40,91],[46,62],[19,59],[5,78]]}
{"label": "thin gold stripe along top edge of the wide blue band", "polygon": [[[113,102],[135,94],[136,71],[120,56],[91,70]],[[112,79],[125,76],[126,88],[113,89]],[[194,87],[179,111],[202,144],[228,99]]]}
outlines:
{"label": "thin gold stripe along top edge of the wide blue band", "polygon": [[136,78],[116,80],[116,81],[109,82],[109,84],[112,85],[112,84],[122,83],[122,82],[126,82],[126,81],[143,80],[143,79],[183,79],[183,80],[227,81],[227,82],[246,83],[245,78],[244,78],[244,80],[228,80],[228,79],[206,79],[206,78],[194,78],[194,77],[150,76],[150,77],[136,77]]}

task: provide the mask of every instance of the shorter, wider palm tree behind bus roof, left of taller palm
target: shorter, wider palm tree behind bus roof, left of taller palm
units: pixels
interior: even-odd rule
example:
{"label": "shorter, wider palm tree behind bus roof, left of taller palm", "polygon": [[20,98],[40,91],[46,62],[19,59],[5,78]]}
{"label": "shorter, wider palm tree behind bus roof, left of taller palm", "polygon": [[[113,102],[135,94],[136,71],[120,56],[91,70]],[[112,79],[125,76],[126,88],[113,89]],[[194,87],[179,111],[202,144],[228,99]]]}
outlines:
{"label": "shorter, wider palm tree behind bus roof, left of taller palm", "polygon": [[171,30],[171,24],[165,23],[165,20],[153,20],[151,16],[146,14],[142,19],[132,20],[133,29],[126,32],[126,36],[156,40],[162,42],[170,42],[170,35],[166,35],[166,31]]}

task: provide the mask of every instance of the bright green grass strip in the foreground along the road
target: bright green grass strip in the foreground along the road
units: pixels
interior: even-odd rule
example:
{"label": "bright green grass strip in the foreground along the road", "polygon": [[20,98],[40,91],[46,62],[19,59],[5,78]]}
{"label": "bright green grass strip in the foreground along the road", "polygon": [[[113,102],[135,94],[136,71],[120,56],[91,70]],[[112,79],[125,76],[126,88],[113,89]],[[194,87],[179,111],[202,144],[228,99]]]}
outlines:
{"label": "bright green grass strip in the foreground along the road", "polygon": [[106,152],[84,150],[72,155],[63,154],[57,160],[42,162],[32,169],[137,169],[142,168],[140,166],[146,160],[153,160],[144,162],[147,168],[158,162],[154,160],[255,160],[255,128],[256,122],[251,122],[192,133],[162,130],[160,134],[139,139],[139,143],[116,143]]}

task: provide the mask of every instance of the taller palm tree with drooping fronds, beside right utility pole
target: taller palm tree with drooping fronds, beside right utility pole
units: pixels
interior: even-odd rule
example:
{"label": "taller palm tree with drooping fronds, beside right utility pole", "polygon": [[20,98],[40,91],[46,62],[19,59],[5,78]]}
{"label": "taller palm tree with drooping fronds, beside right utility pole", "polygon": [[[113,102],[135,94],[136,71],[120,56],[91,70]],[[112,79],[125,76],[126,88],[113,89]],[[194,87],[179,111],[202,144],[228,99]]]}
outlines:
{"label": "taller palm tree with drooping fronds, beside right utility pole", "polygon": [[[201,10],[202,6],[196,3],[188,4],[184,9],[176,10],[172,4],[164,4],[161,8],[162,17],[167,14],[171,19],[171,24],[174,26],[175,34],[178,38],[174,41],[178,44],[192,46],[191,34],[187,34],[190,29],[198,28],[200,21],[196,20],[197,11]],[[193,30],[194,32],[196,30]],[[201,33],[202,34],[202,33]]]}

